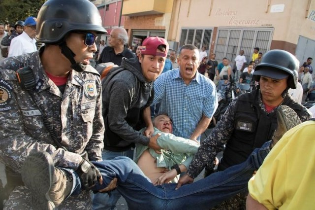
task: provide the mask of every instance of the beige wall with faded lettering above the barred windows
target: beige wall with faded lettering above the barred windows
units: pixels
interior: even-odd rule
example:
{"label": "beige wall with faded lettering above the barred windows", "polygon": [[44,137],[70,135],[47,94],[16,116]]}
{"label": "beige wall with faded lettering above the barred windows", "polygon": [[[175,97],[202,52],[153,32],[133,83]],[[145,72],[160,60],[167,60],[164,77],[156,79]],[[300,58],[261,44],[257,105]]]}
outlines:
{"label": "beige wall with faded lettering above the barred windows", "polygon": [[[179,41],[182,27],[273,27],[273,40],[297,44],[299,35],[315,39],[309,2],[315,10],[315,0],[175,0],[168,39]],[[270,11],[277,4],[283,12]]]}

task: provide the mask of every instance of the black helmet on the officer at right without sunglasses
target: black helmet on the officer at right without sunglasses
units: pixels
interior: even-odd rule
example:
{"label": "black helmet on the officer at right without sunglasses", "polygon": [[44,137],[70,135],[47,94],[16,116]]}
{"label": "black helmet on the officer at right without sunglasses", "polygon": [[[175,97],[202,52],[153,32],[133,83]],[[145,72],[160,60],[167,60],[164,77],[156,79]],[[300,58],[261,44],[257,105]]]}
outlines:
{"label": "black helmet on the officer at right without sunglasses", "polygon": [[255,80],[259,81],[260,76],[273,79],[288,77],[288,88],[296,88],[296,75],[294,70],[299,69],[299,61],[285,50],[270,50],[261,59],[260,64],[255,68]]}

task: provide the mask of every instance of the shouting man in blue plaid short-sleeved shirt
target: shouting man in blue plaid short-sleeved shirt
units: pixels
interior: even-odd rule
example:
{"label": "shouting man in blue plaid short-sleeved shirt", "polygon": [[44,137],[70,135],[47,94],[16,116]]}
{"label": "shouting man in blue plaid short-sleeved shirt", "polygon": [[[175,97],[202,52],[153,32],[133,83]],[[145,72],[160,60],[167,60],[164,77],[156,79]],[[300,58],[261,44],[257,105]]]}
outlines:
{"label": "shouting man in blue plaid short-sleeved shirt", "polygon": [[177,62],[179,69],[167,71],[155,81],[153,104],[161,103],[159,113],[168,113],[173,119],[175,136],[200,140],[218,107],[216,86],[197,71],[197,47],[182,46]]}

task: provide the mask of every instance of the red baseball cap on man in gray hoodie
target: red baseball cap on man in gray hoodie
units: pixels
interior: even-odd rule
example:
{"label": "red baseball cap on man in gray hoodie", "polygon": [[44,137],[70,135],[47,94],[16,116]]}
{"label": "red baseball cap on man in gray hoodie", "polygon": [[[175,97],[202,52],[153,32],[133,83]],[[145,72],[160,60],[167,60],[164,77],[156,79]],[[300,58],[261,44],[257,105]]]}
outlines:
{"label": "red baseball cap on man in gray hoodie", "polygon": [[[161,45],[161,44],[166,46],[165,52],[163,53],[157,52],[158,45]],[[168,43],[164,38],[161,38],[158,36],[150,36],[143,40],[142,46],[141,46],[141,54],[166,57],[168,48],[169,48]]]}

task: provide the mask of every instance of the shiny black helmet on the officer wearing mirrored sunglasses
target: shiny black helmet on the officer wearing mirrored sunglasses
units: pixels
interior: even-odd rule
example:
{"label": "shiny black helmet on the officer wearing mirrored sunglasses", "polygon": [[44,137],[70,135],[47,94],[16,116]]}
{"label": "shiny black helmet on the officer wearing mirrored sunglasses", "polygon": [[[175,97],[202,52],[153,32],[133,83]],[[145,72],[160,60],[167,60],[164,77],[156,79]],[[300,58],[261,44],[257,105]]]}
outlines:
{"label": "shiny black helmet on the officer wearing mirrored sunglasses", "polygon": [[89,0],[48,0],[37,16],[36,40],[58,44],[71,31],[107,33],[96,6]]}

